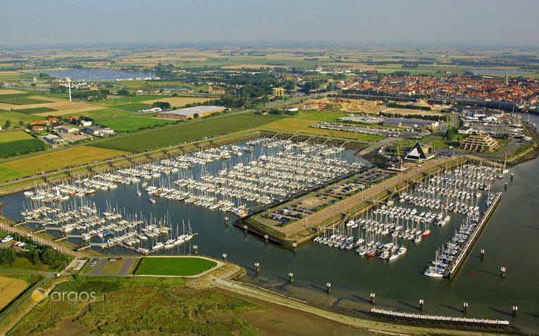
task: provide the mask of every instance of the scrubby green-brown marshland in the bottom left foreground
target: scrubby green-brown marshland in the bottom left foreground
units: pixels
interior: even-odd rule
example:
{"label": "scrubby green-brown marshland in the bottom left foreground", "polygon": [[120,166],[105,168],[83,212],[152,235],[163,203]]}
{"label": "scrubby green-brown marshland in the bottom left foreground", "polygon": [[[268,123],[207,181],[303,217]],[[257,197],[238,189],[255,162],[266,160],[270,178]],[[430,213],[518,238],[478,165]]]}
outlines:
{"label": "scrubby green-brown marshland in the bottom left foreground", "polygon": [[[45,299],[7,335],[46,331],[64,335],[68,330],[80,335],[259,335],[240,316],[261,306],[213,290],[187,290],[182,278],[80,276],[58,284],[54,290],[94,292],[96,299]],[[92,309],[85,309],[89,304]],[[73,316],[78,317],[73,320]],[[73,323],[66,325],[63,321],[68,318]]]}

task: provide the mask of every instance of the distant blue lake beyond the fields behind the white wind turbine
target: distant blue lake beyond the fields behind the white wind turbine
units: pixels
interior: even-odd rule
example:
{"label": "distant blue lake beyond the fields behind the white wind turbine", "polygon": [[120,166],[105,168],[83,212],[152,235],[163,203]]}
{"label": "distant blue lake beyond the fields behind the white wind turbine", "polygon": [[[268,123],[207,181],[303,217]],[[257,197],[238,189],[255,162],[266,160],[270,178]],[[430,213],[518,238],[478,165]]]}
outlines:
{"label": "distant blue lake beyond the fields behind the white wind turbine", "polygon": [[68,76],[73,80],[87,80],[93,82],[99,81],[114,81],[120,79],[151,79],[155,78],[155,75],[147,74],[144,72],[127,72],[120,70],[109,69],[70,69],[70,70],[49,70],[39,71],[37,73],[45,73],[54,77]]}

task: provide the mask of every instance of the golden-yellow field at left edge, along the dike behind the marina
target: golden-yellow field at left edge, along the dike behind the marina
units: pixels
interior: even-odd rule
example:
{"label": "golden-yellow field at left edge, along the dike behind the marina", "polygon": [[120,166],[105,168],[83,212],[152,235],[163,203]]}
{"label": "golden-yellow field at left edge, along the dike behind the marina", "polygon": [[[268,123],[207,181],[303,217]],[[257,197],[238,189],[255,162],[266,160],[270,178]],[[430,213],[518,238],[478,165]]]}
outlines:
{"label": "golden-yellow field at left edge, along the dike behind the marina", "polygon": [[[125,154],[125,152],[79,146],[65,150],[56,150],[42,155],[24,157],[22,159],[0,163],[0,181],[37,174],[39,172],[48,172],[77,164],[85,164],[122,154]],[[39,162],[39,164],[36,164],[36,162]]]}

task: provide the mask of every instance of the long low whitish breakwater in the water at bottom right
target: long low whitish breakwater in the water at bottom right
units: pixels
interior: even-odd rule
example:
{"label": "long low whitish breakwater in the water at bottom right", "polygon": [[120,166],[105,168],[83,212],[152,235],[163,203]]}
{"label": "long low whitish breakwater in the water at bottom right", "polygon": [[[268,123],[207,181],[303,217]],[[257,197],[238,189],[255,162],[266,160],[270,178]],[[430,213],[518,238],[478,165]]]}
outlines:
{"label": "long low whitish breakwater in the water at bottom right", "polygon": [[423,322],[423,323],[444,323],[448,325],[469,325],[474,327],[506,328],[509,321],[490,320],[488,318],[465,318],[453,316],[409,314],[399,311],[388,311],[384,309],[371,309],[371,314],[377,317],[391,318],[392,320]]}

